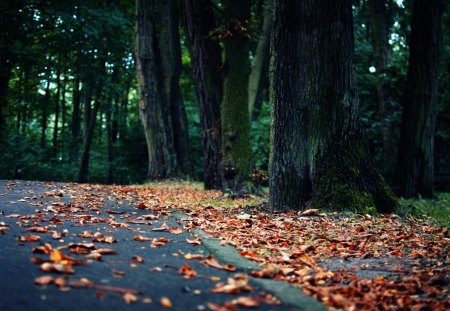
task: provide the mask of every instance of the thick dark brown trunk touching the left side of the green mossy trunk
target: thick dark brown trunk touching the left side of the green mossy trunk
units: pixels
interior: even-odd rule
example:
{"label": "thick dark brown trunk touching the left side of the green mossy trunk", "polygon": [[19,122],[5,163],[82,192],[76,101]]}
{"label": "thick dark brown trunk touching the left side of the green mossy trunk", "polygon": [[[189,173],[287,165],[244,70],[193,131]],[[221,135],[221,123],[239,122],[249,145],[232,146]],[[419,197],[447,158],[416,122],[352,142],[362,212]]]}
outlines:
{"label": "thick dark brown trunk touching the left side of the green mossy trunk", "polygon": [[221,124],[223,78],[221,49],[209,33],[216,28],[210,0],[184,0],[186,34],[202,128],[205,189],[221,189]]}

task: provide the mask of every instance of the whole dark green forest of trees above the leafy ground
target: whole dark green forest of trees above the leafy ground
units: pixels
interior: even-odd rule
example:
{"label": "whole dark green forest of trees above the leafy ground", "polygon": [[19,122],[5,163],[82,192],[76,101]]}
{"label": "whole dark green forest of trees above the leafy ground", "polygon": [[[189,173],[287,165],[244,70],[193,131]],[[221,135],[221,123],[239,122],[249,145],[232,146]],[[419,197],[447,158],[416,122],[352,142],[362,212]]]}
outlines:
{"label": "whole dark green forest of trees above the leafy ground", "polygon": [[[330,9],[332,8],[332,9]],[[177,178],[276,210],[450,181],[450,12],[432,0],[4,0],[0,178]],[[392,192],[392,190],[393,192]]]}

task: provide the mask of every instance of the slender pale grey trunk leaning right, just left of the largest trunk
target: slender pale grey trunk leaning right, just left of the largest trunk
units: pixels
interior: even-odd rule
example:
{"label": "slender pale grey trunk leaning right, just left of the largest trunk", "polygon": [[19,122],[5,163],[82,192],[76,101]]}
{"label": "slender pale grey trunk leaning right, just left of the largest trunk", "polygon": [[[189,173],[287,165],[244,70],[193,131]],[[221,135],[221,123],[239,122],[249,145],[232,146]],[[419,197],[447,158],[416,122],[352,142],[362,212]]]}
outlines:
{"label": "slender pale grey trunk leaning right, just left of the largest trunk", "polygon": [[263,26],[256,47],[255,57],[253,58],[252,71],[248,82],[248,113],[250,121],[252,120],[255,102],[260,91],[261,76],[264,70],[268,70],[266,66],[268,64],[267,58],[269,56],[270,31],[272,30],[272,0],[268,0],[267,2],[269,8],[267,8],[267,12],[264,15]]}

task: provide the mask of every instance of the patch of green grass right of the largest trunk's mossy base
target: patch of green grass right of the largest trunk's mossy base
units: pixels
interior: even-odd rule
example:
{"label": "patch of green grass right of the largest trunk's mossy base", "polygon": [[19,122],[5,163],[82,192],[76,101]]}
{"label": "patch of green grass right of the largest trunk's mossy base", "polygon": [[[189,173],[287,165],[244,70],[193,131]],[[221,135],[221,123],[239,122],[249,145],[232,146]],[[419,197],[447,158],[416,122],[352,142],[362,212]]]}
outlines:
{"label": "patch of green grass right of the largest trunk's mossy base", "polygon": [[400,199],[397,213],[427,216],[440,226],[450,228],[450,192],[439,192],[434,199]]}

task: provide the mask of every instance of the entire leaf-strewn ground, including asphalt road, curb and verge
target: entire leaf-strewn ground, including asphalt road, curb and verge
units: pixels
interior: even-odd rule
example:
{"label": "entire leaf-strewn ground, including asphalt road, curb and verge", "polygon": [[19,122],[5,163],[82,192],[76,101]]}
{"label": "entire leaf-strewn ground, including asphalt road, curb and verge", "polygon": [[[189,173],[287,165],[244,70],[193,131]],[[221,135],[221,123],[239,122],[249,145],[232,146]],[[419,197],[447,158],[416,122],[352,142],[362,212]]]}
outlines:
{"label": "entire leaf-strewn ground, including asphalt road, curb and verge", "polygon": [[447,228],[263,203],[191,184],[0,181],[0,309],[450,308]]}

